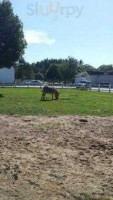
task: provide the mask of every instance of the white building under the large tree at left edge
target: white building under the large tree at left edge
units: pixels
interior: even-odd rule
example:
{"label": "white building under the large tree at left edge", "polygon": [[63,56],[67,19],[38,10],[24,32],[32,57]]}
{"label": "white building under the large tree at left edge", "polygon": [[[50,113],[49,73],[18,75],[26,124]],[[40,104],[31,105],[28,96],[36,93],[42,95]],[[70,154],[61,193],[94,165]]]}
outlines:
{"label": "white building under the large tree at left edge", "polygon": [[0,69],[0,83],[14,83],[15,69],[14,67]]}

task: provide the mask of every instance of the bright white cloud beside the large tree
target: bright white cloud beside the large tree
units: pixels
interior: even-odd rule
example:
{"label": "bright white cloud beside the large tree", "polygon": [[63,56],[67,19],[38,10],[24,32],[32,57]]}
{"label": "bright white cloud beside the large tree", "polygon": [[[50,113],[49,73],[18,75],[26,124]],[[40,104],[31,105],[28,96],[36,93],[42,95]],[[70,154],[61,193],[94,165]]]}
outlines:
{"label": "bright white cloud beside the large tree", "polygon": [[25,38],[28,44],[47,44],[52,45],[55,40],[50,38],[46,32],[37,30],[24,31]]}

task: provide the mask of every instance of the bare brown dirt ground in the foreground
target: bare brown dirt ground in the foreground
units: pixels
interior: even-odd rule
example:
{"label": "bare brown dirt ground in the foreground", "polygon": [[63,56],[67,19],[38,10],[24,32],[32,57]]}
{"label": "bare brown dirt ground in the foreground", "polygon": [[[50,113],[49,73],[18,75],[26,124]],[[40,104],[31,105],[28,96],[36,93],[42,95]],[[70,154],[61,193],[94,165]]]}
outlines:
{"label": "bare brown dirt ground in the foreground", "polygon": [[0,116],[0,200],[113,199],[113,117]]}

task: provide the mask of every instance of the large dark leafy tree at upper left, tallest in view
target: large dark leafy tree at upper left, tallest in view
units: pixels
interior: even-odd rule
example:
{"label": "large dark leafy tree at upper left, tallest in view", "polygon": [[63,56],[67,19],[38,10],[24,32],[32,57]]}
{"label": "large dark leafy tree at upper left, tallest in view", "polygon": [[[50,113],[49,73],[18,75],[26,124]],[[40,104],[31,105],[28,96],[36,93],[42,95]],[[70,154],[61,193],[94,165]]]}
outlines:
{"label": "large dark leafy tree at upper left, tallest in view", "polygon": [[26,47],[23,24],[8,0],[0,2],[0,67],[12,67]]}

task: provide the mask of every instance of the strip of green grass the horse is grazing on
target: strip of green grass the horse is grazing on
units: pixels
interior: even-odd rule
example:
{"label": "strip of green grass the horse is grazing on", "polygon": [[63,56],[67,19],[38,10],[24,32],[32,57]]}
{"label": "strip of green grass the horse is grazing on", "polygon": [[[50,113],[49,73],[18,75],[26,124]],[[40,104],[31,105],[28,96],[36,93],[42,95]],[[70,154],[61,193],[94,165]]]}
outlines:
{"label": "strip of green grass the horse is grazing on", "polygon": [[40,101],[40,89],[0,89],[0,114],[9,115],[113,115],[113,94],[61,89],[60,99]]}

